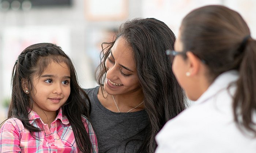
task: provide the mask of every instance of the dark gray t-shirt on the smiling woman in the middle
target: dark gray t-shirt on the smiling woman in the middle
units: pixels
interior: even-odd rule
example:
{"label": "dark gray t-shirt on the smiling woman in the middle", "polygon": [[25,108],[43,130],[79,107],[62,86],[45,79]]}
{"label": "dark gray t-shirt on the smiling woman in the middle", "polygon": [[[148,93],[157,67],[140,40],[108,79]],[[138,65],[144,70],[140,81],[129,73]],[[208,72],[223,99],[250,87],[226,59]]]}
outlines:
{"label": "dark gray t-shirt on the smiling woman in the middle", "polygon": [[84,90],[91,100],[90,121],[97,133],[99,153],[136,153],[146,136],[146,111],[115,113],[99,102],[99,86]]}

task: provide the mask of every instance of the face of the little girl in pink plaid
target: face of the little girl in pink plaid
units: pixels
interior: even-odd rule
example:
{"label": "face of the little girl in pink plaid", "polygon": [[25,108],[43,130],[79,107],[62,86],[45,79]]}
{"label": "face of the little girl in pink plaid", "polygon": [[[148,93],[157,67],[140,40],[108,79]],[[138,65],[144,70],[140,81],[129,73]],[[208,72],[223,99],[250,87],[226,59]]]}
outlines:
{"label": "face of the little girl in pink plaid", "polygon": [[33,77],[33,110],[41,114],[43,110],[56,112],[68,99],[70,94],[70,71],[67,64],[51,62],[41,76]]}

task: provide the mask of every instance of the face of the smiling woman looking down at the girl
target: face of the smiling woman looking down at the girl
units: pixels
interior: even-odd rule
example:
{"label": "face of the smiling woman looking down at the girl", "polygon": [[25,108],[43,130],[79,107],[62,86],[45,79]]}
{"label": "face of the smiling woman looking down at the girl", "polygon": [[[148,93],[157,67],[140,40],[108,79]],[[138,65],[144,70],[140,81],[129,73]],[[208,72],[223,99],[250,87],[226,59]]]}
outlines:
{"label": "face of the smiling woman looking down at the girl", "polygon": [[110,95],[142,92],[133,50],[121,36],[116,40],[105,62],[107,68],[105,91]]}

